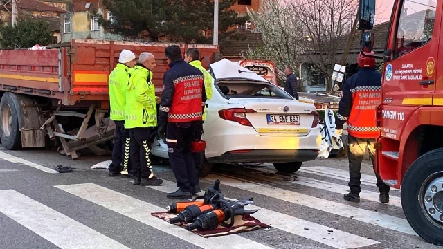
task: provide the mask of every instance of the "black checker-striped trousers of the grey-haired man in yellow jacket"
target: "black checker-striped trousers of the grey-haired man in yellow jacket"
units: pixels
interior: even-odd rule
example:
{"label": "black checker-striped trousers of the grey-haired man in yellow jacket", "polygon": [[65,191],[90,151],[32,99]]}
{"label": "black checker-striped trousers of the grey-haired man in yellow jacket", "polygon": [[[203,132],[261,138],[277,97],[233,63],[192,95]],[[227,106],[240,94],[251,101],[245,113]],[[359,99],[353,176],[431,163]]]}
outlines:
{"label": "black checker-striped trousers of the grey-haired man in yellow jacket", "polygon": [[130,154],[131,154],[131,174],[141,178],[152,178],[151,165],[151,128],[133,128],[129,129],[131,135]]}

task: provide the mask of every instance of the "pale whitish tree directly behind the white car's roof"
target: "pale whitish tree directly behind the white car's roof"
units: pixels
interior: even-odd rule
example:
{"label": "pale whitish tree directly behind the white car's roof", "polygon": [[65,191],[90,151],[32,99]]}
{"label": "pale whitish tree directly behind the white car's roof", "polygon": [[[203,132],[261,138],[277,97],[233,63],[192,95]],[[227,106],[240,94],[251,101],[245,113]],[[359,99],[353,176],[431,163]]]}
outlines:
{"label": "pale whitish tree directly behind the white car's roof", "polygon": [[[266,1],[259,12],[248,10],[256,32],[262,33],[264,45],[243,53],[248,59],[271,59],[275,63],[278,79],[284,81],[285,66],[300,68],[306,46],[302,22],[282,4],[282,1]],[[298,75],[299,72],[296,72]]]}

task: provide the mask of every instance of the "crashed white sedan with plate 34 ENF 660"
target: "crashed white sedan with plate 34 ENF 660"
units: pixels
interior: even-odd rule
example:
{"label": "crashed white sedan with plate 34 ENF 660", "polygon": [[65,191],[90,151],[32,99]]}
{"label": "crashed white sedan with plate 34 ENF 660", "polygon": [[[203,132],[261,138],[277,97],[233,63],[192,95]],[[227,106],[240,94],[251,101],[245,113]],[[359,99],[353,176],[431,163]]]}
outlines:
{"label": "crashed white sedan with plate 34 ENF 660", "polygon": [[[322,137],[314,104],[294,100],[263,77],[223,59],[211,64],[216,77],[204,122],[205,162],[201,176],[214,163],[273,163],[293,173],[315,160]],[[155,139],[152,154],[168,158],[166,145]]]}

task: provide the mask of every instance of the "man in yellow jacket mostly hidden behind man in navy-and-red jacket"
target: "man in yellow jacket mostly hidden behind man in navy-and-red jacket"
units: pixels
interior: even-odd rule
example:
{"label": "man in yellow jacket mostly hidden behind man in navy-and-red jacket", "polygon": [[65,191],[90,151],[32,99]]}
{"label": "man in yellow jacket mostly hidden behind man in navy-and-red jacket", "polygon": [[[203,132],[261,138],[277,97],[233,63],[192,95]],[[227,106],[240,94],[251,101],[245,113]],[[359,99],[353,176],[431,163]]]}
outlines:
{"label": "man in yellow jacket mostly hidden behind man in navy-and-red jacket", "polygon": [[[203,73],[204,78],[204,84],[205,84],[205,91],[206,91],[206,98],[210,100],[210,98],[213,97],[213,77],[206,71],[206,69],[201,66],[200,62],[200,51],[198,48],[189,48],[185,53],[185,62],[188,62],[191,66],[195,66],[196,68],[199,68],[201,73]],[[208,107],[204,107],[203,116],[201,119],[203,122],[206,120],[207,115],[207,109]],[[200,124],[203,125],[203,124]],[[200,129],[203,131],[203,129]],[[197,172],[200,175],[201,169],[203,169],[202,163],[204,163],[204,153],[193,153],[194,155],[194,161],[195,165],[197,166]]]}

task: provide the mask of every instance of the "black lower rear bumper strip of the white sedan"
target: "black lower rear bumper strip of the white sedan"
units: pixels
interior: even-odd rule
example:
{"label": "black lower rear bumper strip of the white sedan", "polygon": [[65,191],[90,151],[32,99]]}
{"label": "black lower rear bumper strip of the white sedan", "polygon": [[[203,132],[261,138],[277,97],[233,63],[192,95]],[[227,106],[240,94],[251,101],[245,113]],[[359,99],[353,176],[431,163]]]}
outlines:
{"label": "black lower rear bumper strip of the white sedan", "polygon": [[318,150],[311,149],[257,149],[226,152],[207,160],[209,163],[287,163],[316,160],[317,156]]}

